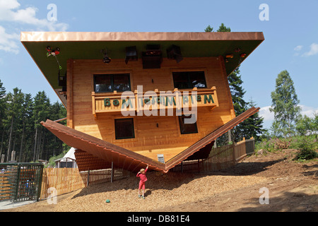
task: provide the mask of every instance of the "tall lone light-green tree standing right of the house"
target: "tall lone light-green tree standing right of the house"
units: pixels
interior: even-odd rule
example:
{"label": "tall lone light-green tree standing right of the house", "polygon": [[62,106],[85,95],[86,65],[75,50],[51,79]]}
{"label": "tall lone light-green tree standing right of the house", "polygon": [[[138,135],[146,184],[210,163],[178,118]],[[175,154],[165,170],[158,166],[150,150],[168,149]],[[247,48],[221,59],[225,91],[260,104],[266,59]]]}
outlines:
{"label": "tall lone light-green tree standing right of the house", "polygon": [[281,71],[276,78],[276,89],[271,93],[271,108],[274,113],[273,133],[277,136],[292,136],[301,108],[294,83],[288,71]]}

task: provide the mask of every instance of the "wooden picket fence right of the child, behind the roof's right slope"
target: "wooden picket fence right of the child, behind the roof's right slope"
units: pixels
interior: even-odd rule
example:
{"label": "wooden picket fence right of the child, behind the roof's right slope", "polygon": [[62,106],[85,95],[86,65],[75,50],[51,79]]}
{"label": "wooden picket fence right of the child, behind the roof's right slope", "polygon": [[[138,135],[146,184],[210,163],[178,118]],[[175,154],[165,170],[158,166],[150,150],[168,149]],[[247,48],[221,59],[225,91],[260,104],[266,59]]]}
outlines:
{"label": "wooden picket fence right of the child, behind the roof's right slope", "polygon": [[240,162],[244,157],[254,153],[254,139],[243,140],[239,143],[212,148],[204,160],[191,160],[181,162],[171,170],[173,172],[209,172],[226,169]]}

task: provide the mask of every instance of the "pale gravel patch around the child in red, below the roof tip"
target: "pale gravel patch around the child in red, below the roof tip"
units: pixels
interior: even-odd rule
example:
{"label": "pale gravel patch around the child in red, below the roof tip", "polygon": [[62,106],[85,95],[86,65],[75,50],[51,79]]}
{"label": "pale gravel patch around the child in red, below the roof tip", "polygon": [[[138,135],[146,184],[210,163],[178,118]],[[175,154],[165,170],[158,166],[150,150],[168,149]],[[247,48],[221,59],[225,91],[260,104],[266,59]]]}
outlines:
{"label": "pale gravel patch around the child in red, below the roof tip", "polygon": [[[145,199],[138,198],[138,179],[96,184],[64,198],[55,211],[150,211],[192,203],[206,196],[263,182],[254,176],[158,174],[148,172]],[[109,199],[110,203],[105,203]],[[71,208],[70,208],[71,206]]]}

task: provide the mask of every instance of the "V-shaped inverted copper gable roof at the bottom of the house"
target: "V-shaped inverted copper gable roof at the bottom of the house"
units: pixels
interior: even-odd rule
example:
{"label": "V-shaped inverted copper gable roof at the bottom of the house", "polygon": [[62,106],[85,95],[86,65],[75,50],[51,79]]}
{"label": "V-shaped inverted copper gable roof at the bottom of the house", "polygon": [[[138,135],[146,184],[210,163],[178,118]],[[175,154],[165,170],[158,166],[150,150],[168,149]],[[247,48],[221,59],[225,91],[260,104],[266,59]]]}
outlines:
{"label": "V-shaped inverted copper gable roof at the bottom of the house", "polygon": [[[115,167],[127,169],[131,172],[137,172],[140,168],[146,167],[148,164],[150,169],[166,173],[169,169],[178,165],[179,162],[186,160],[189,156],[198,152],[206,145],[209,145],[223,133],[226,133],[258,111],[259,108],[255,107],[248,109],[246,112],[228,121],[227,124],[208,134],[208,136],[194,143],[182,153],[179,153],[165,163],[155,161],[107,141],[102,141],[99,138],[95,138],[81,131],[76,131],[75,129],[71,129],[49,119],[45,122],[42,121],[41,124],[54,133],[61,141],[78,149],[78,151],[76,151],[76,161],[80,170],[102,169],[102,167],[109,167],[110,162],[114,162]],[[77,157],[79,157],[78,160]]]}

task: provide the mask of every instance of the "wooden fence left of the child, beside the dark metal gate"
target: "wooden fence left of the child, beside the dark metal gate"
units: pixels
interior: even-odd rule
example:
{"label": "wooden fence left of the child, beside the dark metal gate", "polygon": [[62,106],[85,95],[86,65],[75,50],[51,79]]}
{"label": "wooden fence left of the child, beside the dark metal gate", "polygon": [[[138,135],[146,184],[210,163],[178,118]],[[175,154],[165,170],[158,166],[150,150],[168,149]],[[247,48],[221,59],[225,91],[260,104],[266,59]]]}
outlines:
{"label": "wooden fence left of the child, beside the dark metal gate", "polygon": [[[124,169],[114,169],[113,180],[130,177],[131,172]],[[88,184],[98,184],[110,182],[112,169],[91,170],[79,172],[78,168],[47,168],[43,169],[42,189],[40,199],[53,196],[52,189],[56,189],[57,194],[66,194],[77,189],[82,189]]]}

